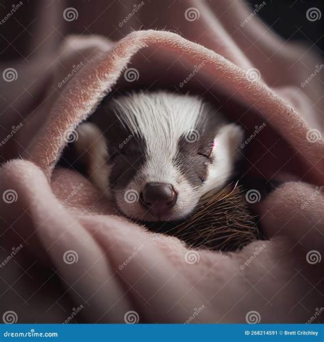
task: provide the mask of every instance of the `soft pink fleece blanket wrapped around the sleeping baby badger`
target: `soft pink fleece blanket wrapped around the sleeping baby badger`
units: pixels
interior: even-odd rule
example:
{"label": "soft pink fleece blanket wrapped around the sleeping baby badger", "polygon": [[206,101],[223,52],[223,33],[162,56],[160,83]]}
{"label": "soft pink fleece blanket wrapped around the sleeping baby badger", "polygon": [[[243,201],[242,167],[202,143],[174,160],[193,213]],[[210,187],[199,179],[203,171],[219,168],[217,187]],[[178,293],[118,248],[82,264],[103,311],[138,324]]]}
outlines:
{"label": "soft pink fleece blanket wrapped around the sleeping baby badger", "polygon": [[[187,39],[70,36],[50,68],[1,65],[3,320],[313,321],[323,300],[323,98],[319,79],[301,83],[321,63],[254,17],[237,29],[250,12],[238,1],[182,1],[174,14]],[[244,172],[286,181],[252,200],[267,241],[237,253],[188,250],[114,215],[92,183],[56,166],[106,94],[142,87],[202,94],[245,127]],[[19,96],[26,88],[30,98]]]}

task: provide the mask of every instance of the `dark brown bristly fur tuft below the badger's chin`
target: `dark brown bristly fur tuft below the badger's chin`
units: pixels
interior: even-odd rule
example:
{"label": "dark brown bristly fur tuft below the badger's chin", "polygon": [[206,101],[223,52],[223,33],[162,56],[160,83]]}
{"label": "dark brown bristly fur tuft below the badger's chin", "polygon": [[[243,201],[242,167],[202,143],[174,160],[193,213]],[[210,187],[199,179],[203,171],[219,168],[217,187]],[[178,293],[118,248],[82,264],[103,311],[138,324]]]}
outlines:
{"label": "dark brown bristly fur tuft below the badger's chin", "polygon": [[201,200],[184,222],[146,222],[150,230],[178,237],[187,246],[234,251],[260,238],[241,187],[227,185]]}

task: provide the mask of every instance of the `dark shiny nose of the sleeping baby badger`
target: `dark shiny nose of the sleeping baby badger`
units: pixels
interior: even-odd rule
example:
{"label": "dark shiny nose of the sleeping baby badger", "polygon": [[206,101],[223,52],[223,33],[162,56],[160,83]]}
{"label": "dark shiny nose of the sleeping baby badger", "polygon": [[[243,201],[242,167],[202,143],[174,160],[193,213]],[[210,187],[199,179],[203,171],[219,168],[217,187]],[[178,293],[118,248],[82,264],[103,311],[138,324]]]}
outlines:
{"label": "dark shiny nose of the sleeping baby badger", "polygon": [[171,184],[147,183],[141,192],[141,202],[154,214],[161,214],[176,204],[177,194]]}

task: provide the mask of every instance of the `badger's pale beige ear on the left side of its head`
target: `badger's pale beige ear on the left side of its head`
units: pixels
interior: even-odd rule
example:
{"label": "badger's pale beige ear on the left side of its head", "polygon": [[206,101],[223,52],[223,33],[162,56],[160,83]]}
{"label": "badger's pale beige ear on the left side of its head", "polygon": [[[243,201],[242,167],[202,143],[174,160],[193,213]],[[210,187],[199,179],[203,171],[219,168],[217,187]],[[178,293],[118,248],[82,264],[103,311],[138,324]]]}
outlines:
{"label": "badger's pale beige ear on the left side of its head", "polygon": [[110,166],[107,141],[103,132],[91,122],[85,122],[77,128],[77,140],[73,147],[85,164],[87,174],[101,190],[109,187]]}

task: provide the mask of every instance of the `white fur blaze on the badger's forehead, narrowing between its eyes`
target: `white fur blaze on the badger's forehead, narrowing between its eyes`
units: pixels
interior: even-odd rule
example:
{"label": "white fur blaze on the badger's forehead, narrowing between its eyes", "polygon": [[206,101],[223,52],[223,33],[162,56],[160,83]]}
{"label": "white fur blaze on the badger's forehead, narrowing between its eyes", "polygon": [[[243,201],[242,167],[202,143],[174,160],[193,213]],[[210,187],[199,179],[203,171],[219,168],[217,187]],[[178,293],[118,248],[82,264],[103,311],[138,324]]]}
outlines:
{"label": "white fur blaze on the badger's forehead, narrowing between its eyes", "polygon": [[148,156],[160,159],[161,153],[176,153],[178,140],[195,128],[204,105],[198,96],[167,92],[131,93],[111,101],[124,127],[145,138]]}

